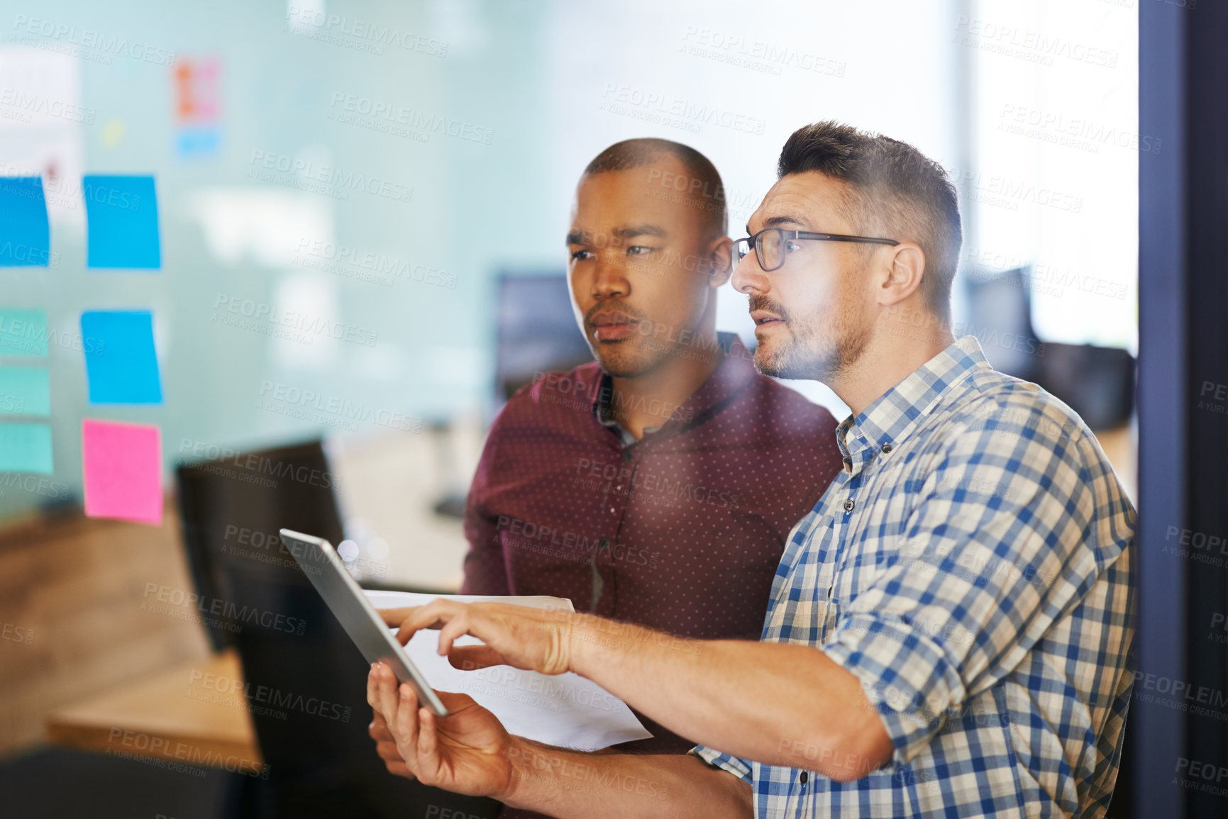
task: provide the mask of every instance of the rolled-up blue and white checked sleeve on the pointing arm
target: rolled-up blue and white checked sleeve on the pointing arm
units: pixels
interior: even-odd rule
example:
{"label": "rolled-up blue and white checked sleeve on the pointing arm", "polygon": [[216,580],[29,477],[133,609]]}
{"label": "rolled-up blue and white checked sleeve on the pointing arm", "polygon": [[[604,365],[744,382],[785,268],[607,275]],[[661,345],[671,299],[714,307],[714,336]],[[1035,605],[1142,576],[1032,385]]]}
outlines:
{"label": "rolled-up blue and white checked sleeve on the pointing arm", "polygon": [[823,646],[861,679],[896,765],[1018,666],[1120,553],[1092,523],[1095,444],[1040,413],[1012,420],[965,426],[936,453],[895,561]]}

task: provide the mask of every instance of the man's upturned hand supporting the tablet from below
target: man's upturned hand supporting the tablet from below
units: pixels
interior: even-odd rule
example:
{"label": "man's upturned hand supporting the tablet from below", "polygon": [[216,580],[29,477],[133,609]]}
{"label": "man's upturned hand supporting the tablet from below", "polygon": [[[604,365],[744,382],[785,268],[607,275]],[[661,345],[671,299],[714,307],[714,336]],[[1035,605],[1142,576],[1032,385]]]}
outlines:
{"label": "man's upturned hand supporting the tablet from below", "polygon": [[376,713],[371,736],[388,770],[456,793],[505,797],[513,785],[507,731],[473,697],[438,695],[446,717],[419,707],[414,690],[398,686],[391,668],[371,667],[367,702]]}

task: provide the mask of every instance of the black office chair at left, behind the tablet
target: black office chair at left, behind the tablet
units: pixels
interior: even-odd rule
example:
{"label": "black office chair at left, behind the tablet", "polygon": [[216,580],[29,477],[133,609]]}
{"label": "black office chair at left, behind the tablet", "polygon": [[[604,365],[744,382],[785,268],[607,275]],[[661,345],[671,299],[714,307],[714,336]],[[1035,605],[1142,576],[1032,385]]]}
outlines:
{"label": "black office chair at left, behind the tablet", "polygon": [[[184,546],[215,650],[235,647],[268,780],[243,777],[244,817],[494,817],[499,803],[388,774],[367,736],[368,663],[278,530],[343,539],[319,441],[183,463]],[[216,603],[215,603],[216,600]]]}

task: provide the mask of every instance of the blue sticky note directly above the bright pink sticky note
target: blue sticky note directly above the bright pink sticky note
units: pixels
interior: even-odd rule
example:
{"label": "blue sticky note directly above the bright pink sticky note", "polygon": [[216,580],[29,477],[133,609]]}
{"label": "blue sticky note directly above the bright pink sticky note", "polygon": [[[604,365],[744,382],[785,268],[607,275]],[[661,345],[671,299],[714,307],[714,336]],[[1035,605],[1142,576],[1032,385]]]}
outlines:
{"label": "blue sticky note directly above the bright pink sticky note", "polygon": [[151,312],[81,313],[81,335],[96,341],[85,345],[91,404],[162,403]]}

